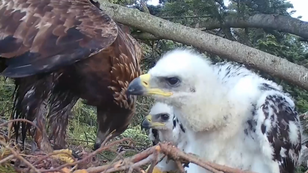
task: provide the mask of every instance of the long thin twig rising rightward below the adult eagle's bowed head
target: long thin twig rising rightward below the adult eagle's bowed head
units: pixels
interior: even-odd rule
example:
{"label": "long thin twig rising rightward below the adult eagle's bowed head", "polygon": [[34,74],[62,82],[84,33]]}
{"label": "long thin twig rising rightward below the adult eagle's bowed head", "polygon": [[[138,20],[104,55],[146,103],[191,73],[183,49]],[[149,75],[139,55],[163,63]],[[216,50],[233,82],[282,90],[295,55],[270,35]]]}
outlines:
{"label": "long thin twig rising rightward below the adult eagle's bowed head", "polygon": [[107,146],[103,146],[108,139],[111,138],[111,135],[107,136],[107,138],[104,140],[104,142],[101,144],[100,148],[93,151],[91,154],[87,155],[85,158],[81,159],[81,160],[78,160],[76,162],[73,162],[73,163],[65,163],[59,167],[56,167],[56,168],[53,168],[53,169],[43,169],[43,170],[40,170],[42,173],[43,172],[55,172],[55,171],[59,171],[60,169],[64,168],[64,167],[67,167],[67,166],[72,166],[72,165],[76,165],[76,164],[80,164],[84,161],[86,161],[87,159],[90,159],[92,156],[96,155],[97,153],[99,152],[102,152],[102,151],[105,151],[105,150],[108,150],[108,148],[114,146],[115,144],[118,144],[118,143],[121,143],[123,141],[126,141],[126,140],[132,140],[130,138],[123,138],[123,139],[120,139],[120,140],[117,140],[117,141],[114,141],[114,142],[111,142],[109,143]]}

